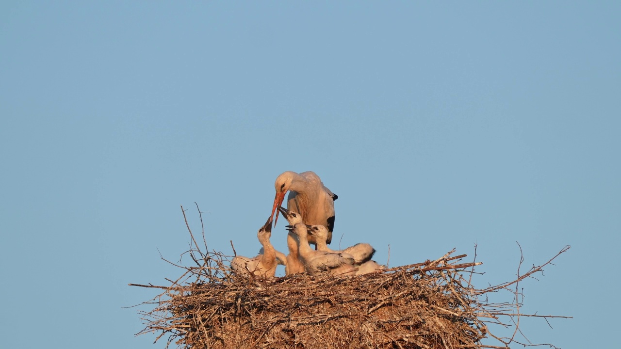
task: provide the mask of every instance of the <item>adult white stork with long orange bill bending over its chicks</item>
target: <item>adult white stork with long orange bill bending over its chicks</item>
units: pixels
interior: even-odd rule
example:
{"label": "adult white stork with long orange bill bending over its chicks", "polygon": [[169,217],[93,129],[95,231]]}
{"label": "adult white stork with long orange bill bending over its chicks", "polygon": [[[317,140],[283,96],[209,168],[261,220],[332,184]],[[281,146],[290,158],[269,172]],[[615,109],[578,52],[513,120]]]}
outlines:
{"label": "adult white stork with long orange bill bending over its chicks", "polygon": [[[285,171],[274,182],[276,196],[272,207],[271,217],[274,216],[276,207],[283,204],[284,194],[289,191],[287,208],[302,216],[302,222],[306,224],[320,224],[327,227],[329,233],[327,243],[332,242],[332,230],[334,229],[334,201],[338,196],[330,189],[325,188],[324,183],[317,174],[312,171],[295,173]],[[278,215],[274,220],[274,226],[278,222]],[[309,242],[317,244],[314,237],[309,237]]]}

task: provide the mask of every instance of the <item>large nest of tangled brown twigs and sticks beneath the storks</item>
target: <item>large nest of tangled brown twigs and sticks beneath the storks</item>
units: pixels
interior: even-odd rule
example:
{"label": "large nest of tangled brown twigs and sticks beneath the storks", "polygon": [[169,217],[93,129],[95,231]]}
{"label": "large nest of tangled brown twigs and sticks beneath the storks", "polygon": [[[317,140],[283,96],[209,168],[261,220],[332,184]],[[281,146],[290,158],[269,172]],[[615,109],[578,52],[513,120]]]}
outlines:
{"label": "large nest of tangled brown twigs and sticks beneath the storks", "polygon": [[[177,265],[184,273],[169,280],[171,286],[130,284],[163,289],[143,303],[156,307],[140,312],[146,327],[138,334],[156,333],[155,342],[166,338],[166,348],[173,343],[201,349],[509,348],[511,343],[534,345],[517,342],[520,317],[563,317],[520,314],[517,284],[569,247],[514,281],[476,289],[471,276],[481,263],[460,263],[466,255],[452,256],[455,250],[437,260],[363,276],[238,275],[227,256],[202,252],[189,225],[188,230],[193,243],[186,253],[196,266]],[[203,243],[207,250],[204,232]],[[487,293],[503,289],[512,292],[512,302],[487,301]],[[490,324],[513,324],[515,332],[496,337]],[[499,343],[483,345],[483,338]]]}

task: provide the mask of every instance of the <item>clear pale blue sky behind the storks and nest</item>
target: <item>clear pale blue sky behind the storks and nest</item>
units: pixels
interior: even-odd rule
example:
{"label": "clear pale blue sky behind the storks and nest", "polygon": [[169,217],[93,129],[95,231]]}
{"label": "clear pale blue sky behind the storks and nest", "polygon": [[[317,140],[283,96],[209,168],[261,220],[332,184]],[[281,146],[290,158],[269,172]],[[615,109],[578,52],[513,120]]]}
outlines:
{"label": "clear pale blue sky behind the storks and nest", "polygon": [[[334,241],[457,248],[523,283],[532,342],[618,343],[621,5],[0,4],[3,348],[161,348],[136,309],[204,215],[255,255],[279,173],[338,194]],[[284,223],[284,221],[281,221]],[[285,250],[284,224],[273,242]],[[159,250],[159,252],[158,252]],[[279,271],[281,273],[281,271]],[[505,296],[509,301],[509,295]]]}

